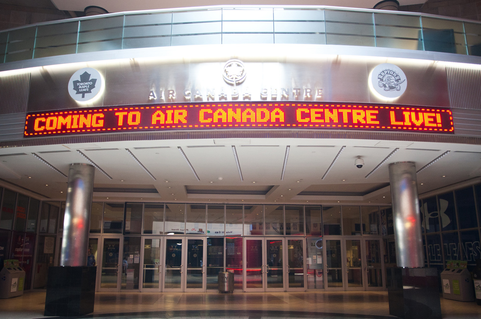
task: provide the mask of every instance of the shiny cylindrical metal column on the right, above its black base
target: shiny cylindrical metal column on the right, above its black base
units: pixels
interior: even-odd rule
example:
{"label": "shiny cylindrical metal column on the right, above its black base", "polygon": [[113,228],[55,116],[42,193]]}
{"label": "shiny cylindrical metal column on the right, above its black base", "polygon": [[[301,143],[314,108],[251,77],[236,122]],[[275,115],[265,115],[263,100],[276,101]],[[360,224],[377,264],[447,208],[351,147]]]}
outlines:
{"label": "shiny cylindrical metal column on the right, above its black base", "polygon": [[390,164],[389,181],[398,267],[424,267],[416,165],[413,162]]}

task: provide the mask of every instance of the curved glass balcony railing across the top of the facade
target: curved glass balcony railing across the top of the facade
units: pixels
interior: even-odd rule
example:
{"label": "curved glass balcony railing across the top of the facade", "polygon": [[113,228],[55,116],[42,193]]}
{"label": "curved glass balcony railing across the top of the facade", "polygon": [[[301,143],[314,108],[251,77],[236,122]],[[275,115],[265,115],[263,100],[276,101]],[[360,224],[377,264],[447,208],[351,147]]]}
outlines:
{"label": "curved glass balcony railing across the top of the facade", "polygon": [[354,45],[481,56],[481,24],[339,7],[198,7],[114,13],[0,32],[0,63],[198,44]]}

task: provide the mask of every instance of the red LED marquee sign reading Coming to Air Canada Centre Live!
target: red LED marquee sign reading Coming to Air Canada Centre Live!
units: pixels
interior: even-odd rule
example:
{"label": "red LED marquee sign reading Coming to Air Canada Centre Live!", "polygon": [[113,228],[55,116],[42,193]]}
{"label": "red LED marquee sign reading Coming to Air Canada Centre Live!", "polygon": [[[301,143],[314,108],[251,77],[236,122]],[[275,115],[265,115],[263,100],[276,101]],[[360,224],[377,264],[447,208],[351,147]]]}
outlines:
{"label": "red LED marquee sign reading Coming to Air Canada Centre Live!", "polygon": [[449,109],[353,103],[190,103],[31,112],[25,137],[212,129],[454,133]]}

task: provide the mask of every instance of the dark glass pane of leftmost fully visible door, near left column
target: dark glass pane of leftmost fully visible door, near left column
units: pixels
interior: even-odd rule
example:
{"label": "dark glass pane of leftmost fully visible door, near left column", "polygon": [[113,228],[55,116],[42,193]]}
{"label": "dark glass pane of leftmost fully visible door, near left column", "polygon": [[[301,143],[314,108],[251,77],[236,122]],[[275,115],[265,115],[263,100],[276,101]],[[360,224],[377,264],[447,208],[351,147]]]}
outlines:
{"label": "dark glass pane of leftmost fully visible door, near left column", "polygon": [[[106,205],[107,206],[107,205]],[[100,278],[101,288],[117,288],[119,271],[120,239],[104,239],[102,253],[102,274]]]}

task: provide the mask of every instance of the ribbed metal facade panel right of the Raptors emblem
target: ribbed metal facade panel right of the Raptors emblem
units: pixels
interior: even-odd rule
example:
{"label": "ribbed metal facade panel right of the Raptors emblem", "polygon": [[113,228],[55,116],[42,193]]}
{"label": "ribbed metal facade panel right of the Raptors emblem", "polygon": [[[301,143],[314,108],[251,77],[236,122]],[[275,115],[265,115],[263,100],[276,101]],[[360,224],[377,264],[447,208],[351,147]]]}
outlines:
{"label": "ribbed metal facade panel right of the Raptors emblem", "polygon": [[451,107],[481,109],[481,69],[446,67]]}

